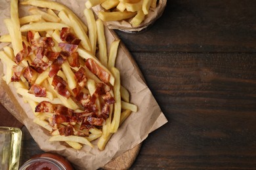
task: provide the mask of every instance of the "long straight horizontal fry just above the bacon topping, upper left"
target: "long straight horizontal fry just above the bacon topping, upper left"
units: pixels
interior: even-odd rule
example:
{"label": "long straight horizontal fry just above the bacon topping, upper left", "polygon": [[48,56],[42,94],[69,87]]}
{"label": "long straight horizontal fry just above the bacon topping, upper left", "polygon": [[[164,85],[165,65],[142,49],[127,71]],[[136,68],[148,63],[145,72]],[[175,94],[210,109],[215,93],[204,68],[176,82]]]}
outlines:
{"label": "long straight horizontal fry just above the bacon topping, upper left", "polygon": [[66,24],[58,23],[58,22],[44,22],[44,23],[32,23],[32,24],[26,24],[22,25],[20,27],[20,31],[48,31],[48,30],[54,30],[58,29],[61,30],[62,27],[69,27]]}

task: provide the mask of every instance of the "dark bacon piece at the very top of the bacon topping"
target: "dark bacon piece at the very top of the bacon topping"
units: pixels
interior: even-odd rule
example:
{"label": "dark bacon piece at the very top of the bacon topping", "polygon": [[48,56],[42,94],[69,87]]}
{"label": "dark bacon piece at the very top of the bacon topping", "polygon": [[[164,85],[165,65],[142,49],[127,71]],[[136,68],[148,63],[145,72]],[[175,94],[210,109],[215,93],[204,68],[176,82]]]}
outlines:
{"label": "dark bacon piece at the very top of the bacon topping", "polygon": [[77,39],[74,34],[70,33],[70,28],[62,27],[60,31],[60,39],[62,41],[68,42],[68,44],[76,44],[78,45],[81,39]]}

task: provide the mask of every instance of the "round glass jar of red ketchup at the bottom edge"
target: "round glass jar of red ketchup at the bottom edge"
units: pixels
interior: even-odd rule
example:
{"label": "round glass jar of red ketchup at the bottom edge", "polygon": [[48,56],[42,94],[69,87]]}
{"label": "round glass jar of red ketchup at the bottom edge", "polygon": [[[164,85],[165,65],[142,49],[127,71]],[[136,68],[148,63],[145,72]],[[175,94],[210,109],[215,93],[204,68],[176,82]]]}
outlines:
{"label": "round glass jar of red ketchup at the bottom edge", "polygon": [[33,156],[19,170],[74,170],[68,160],[58,154],[44,153]]}

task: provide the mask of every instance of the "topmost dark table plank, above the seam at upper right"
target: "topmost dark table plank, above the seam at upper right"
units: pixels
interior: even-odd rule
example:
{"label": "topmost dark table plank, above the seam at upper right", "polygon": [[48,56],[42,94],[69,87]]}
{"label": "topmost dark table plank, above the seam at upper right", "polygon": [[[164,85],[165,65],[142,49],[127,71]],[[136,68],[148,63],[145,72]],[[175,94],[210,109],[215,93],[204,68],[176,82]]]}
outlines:
{"label": "topmost dark table plank, above the seam at upper right", "polygon": [[131,52],[255,52],[253,0],[168,0],[146,33],[117,34]]}

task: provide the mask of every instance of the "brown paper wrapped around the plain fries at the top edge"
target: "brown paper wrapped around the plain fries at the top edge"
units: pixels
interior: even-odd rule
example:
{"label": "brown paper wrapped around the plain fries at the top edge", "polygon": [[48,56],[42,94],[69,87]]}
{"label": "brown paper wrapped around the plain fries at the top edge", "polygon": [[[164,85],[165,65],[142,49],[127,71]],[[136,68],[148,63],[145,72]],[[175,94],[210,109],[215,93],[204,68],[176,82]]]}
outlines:
{"label": "brown paper wrapped around the plain fries at the top edge", "polygon": [[[122,20],[122,21],[112,21],[106,22],[106,25],[109,29],[119,29],[125,32],[137,32],[145,29],[149,25],[153,24],[158,18],[160,18],[161,14],[163,14],[163,10],[165,9],[167,0],[159,0],[155,9],[150,8],[150,12],[145,16],[144,21],[138,26],[133,27],[129,22],[130,20]],[[98,14],[98,11],[103,10],[100,5],[93,7],[95,13]]]}

